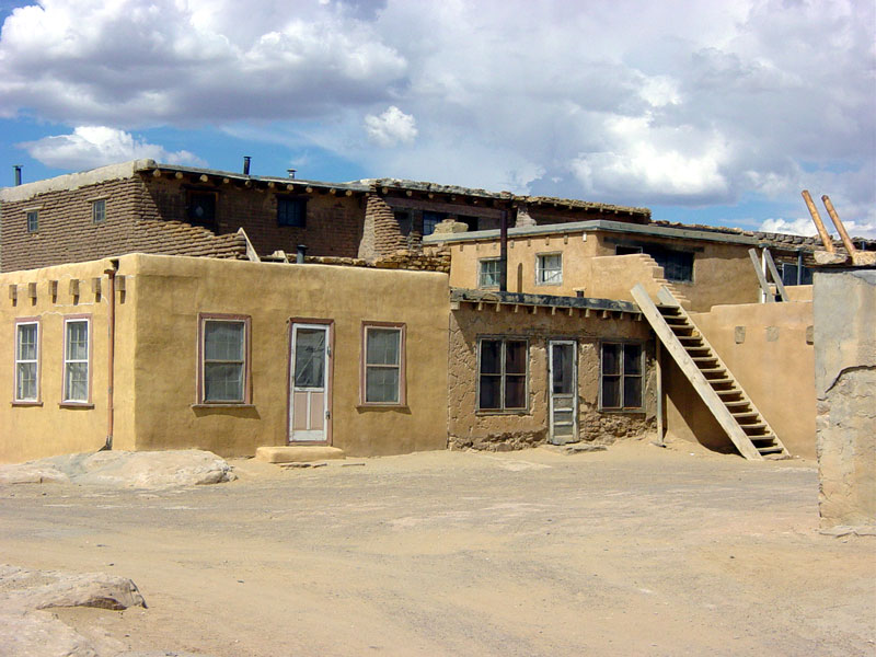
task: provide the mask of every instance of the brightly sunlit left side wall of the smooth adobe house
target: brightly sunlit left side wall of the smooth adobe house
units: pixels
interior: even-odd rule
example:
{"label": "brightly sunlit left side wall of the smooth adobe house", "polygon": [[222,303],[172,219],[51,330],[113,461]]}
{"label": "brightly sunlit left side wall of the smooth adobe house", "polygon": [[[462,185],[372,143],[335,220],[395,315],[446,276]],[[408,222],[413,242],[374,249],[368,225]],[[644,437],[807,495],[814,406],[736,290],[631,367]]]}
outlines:
{"label": "brightly sunlit left side wall of the smooth adobe house", "polygon": [[[96,451],[107,431],[107,308],[110,261],[38,270],[0,274],[0,462],[19,462],[58,453]],[[92,280],[100,281],[101,296]],[[79,281],[80,295],[70,293]],[[53,297],[50,281],[56,283]],[[18,300],[10,299],[14,285]],[[30,297],[34,285],[35,301]],[[61,407],[64,377],[64,320],[91,316],[91,406]],[[39,321],[39,405],[13,405],[15,320]],[[130,291],[116,293],[115,437],[116,449],[134,448],[134,303]]]}

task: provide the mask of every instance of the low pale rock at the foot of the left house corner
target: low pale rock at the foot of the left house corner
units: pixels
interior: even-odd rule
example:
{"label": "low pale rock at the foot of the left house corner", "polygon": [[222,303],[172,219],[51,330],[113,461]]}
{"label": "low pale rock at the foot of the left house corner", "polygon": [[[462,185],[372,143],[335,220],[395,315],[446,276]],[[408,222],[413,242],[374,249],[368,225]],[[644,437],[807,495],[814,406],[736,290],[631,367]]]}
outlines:
{"label": "low pale rock at the foot of the left house corner", "polygon": [[99,451],[0,465],[0,484],[70,482],[125,488],[218,484],[237,479],[224,459],[196,449]]}

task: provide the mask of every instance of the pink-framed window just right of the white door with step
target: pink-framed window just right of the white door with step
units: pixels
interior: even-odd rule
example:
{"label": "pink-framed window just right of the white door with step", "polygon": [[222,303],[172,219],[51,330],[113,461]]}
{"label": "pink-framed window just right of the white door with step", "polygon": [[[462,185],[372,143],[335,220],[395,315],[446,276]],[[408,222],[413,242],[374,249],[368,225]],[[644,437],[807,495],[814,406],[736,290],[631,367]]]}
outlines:
{"label": "pink-framed window just right of the white door with step", "polygon": [[364,331],[362,403],[404,405],[404,325],[365,325]]}

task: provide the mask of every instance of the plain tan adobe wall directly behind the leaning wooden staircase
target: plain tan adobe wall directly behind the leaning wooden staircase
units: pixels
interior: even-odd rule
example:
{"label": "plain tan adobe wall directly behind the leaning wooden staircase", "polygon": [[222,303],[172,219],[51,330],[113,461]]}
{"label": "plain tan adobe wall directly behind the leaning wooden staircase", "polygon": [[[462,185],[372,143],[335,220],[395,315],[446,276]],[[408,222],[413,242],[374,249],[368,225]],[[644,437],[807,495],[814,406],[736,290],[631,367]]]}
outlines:
{"label": "plain tan adobe wall directly behind the leaning wooden staircase", "polygon": [[[812,304],[716,306],[691,313],[705,338],[787,450],[815,458]],[[735,448],[690,382],[664,351],[667,431],[710,449]]]}

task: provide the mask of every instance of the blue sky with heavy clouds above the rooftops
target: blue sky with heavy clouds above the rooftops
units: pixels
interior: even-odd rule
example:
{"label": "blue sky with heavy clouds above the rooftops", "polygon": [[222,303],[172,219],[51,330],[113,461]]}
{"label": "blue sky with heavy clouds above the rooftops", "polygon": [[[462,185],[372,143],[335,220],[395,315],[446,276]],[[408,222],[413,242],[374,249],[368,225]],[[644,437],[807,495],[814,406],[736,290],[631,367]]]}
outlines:
{"label": "blue sky with heavy clouds above the rooftops", "polygon": [[0,0],[0,185],[153,158],[876,237],[872,0]]}

